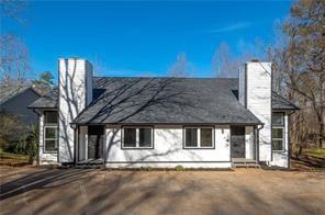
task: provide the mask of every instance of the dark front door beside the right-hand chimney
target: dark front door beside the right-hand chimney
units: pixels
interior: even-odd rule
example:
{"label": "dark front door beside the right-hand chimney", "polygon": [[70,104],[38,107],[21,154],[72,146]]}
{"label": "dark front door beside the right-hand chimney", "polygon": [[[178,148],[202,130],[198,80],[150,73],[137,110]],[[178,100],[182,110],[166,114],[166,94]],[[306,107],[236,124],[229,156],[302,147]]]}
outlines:
{"label": "dark front door beside the right-hand chimney", "polygon": [[232,158],[245,158],[245,127],[231,127],[231,152]]}

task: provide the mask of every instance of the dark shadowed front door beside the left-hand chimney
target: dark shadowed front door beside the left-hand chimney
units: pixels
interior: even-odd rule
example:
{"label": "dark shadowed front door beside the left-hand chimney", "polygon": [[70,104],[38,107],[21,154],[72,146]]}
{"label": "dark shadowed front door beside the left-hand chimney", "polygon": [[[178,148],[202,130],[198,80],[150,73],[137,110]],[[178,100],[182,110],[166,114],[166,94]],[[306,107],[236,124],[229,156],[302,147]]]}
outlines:
{"label": "dark shadowed front door beside the left-hand chimney", "polygon": [[88,159],[103,158],[104,126],[88,126]]}

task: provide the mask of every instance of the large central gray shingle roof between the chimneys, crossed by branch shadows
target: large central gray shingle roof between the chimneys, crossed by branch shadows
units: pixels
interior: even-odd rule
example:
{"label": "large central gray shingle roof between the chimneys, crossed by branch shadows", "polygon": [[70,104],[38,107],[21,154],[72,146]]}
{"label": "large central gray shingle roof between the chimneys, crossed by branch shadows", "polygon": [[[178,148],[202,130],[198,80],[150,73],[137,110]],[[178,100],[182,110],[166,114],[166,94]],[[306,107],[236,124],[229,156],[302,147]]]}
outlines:
{"label": "large central gray shingle roof between the chimneys, crossed by branch shadows", "polygon": [[260,124],[232,92],[236,79],[94,78],[104,89],[74,123]]}

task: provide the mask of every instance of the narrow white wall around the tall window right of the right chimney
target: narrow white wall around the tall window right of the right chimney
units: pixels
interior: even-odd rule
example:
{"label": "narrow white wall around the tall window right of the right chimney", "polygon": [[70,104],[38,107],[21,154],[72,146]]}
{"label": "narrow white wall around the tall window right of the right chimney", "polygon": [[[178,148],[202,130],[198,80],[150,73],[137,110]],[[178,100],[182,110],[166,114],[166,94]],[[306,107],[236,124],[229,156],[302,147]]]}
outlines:
{"label": "narrow white wall around the tall window right of the right chimney", "polygon": [[284,114],[284,150],[272,151],[271,166],[289,168],[289,115]]}

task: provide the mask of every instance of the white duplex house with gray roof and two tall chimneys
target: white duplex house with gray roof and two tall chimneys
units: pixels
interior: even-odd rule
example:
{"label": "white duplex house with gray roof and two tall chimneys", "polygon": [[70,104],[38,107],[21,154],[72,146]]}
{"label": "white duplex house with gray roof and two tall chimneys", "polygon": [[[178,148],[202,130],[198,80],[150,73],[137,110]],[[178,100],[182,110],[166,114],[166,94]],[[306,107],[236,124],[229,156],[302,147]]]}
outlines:
{"label": "white duplex house with gray roof and two tall chimneys", "polygon": [[41,163],[289,167],[298,108],[272,92],[270,63],[247,63],[238,79],[92,77],[79,58],[58,67],[58,88],[30,105],[40,113]]}

